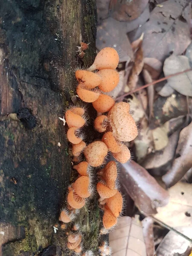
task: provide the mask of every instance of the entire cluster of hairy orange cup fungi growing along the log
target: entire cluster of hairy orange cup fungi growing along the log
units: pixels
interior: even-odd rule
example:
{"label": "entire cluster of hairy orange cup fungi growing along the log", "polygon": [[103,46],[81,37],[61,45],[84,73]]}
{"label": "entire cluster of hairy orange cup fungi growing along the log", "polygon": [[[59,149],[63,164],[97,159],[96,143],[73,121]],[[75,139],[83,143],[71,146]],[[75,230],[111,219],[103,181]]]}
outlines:
{"label": "entire cluster of hairy orange cup fungi growing along the log", "polygon": [[[71,107],[61,119],[68,125],[67,139],[72,144],[73,162],[77,162],[73,165],[73,169],[79,175],[68,187],[67,208],[61,210],[59,221],[63,228],[76,218],[77,212],[84,207],[92,193],[93,167],[104,165],[109,152],[120,163],[126,163],[131,157],[128,147],[123,144],[134,140],[137,136],[137,126],[129,112],[130,105],[126,102],[115,103],[113,97],[108,94],[119,83],[119,73],[116,71],[118,63],[119,55],[116,50],[106,47],[97,54],[90,68],[76,71],[78,81],[76,92],[83,102],[92,103],[97,111],[93,126],[103,134],[101,140],[86,145],[81,135],[81,128],[87,122],[84,108]],[[93,72],[95,70],[96,72]],[[81,153],[84,154],[84,160],[80,162]],[[100,196],[99,206],[104,211],[103,226],[105,231],[109,231],[117,223],[123,204],[122,195],[117,189],[116,162],[107,163],[97,172],[97,177],[99,182],[96,184],[96,190]],[[78,228],[75,229],[74,226],[74,229],[67,233],[67,247],[74,250],[76,254],[81,254],[82,235],[77,230]],[[99,251],[102,256],[111,254],[106,242],[102,243]],[[91,253],[88,251],[81,255],[92,255]]]}

